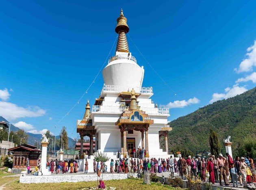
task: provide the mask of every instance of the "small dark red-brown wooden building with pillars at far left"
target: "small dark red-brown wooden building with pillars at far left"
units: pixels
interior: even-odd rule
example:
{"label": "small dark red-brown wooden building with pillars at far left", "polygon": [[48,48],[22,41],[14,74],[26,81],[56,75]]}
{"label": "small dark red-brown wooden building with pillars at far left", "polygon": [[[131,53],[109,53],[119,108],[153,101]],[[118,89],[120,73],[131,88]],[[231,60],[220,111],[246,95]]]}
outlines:
{"label": "small dark red-brown wooden building with pillars at far left", "polygon": [[41,154],[41,150],[30,144],[22,144],[14,148],[9,148],[8,151],[11,151],[13,154],[13,168],[15,169],[26,168],[27,165],[36,167],[39,155]]}

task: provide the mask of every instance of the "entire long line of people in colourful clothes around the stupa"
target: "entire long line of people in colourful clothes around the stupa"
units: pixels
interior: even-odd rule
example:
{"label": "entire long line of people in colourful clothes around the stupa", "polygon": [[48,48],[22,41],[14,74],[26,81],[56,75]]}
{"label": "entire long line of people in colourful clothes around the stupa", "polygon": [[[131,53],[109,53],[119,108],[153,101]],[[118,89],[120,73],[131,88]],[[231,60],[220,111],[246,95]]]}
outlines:
{"label": "entire long line of people in colourful clothes around the stupa", "polygon": [[[233,159],[228,153],[226,158],[222,154],[219,154],[217,158],[214,155],[208,158],[196,157],[184,157],[180,156],[178,160],[173,158],[144,158],[144,148],[135,148],[132,150],[133,158],[120,158],[121,155],[117,153],[117,159],[111,159],[110,173],[128,173],[137,172],[141,173],[147,171],[149,173],[162,173],[169,171],[171,176],[174,177],[174,173],[182,179],[190,177],[191,179],[201,179],[202,182],[206,182],[206,176],[208,182],[215,184],[219,182],[222,186],[223,182],[225,186],[229,186],[230,183],[233,186],[238,187],[240,184],[244,188],[247,185],[256,185],[256,164],[252,158],[236,156]],[[40,160],[39,160],[40,161]],[[40,163],[40,162],[39,162]],[[38,169],[41,165],[39,164]],[[51,173],[77,173],[78,163],[76,160],[51,160],[46,163],[48,171]],[[88,173],[88,161],[85,159],[85,173]],[[28,174],[30,167],[28,165]],[[97,173],[108,172],[108,166],[103,162],[96,162],[93,160],[93,172]]]}

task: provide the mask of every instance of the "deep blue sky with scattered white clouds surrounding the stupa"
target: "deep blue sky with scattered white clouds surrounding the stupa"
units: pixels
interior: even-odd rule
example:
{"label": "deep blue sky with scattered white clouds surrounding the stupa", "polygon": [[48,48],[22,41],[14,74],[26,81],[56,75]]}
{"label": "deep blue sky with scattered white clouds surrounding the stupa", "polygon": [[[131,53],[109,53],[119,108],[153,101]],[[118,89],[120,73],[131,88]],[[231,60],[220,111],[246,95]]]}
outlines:
{"label": "deep blue sky with scattered white clouds surrounding the stupa", "polygon": [[152,86],[152,100],[171,108],[169,120],[252,89],[255,7],[255,1],[1,1],[0,115],[26,131],[58,135],[66,126],[76,137],[87,99],[100,95],[102,73],[63,116],[108,56],[120,8],[129,36],[170,87],[127,36],[145,69],[143,87]]}

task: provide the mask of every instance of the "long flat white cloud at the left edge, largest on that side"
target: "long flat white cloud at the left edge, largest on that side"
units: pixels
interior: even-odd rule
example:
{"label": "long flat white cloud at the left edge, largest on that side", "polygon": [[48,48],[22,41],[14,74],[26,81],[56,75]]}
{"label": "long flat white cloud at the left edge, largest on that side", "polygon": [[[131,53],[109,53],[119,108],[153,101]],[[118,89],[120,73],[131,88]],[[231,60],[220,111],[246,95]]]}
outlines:
{"label": "long flat white cloud at the left edge, largest on that side", "polygon": [[46,114],[46,110],[43,110],[38,106],[23,108],[14,103],[0,101],[0,116],[3,116],[7,120],[15,120],[24,117],[39,117],[44,114]]}

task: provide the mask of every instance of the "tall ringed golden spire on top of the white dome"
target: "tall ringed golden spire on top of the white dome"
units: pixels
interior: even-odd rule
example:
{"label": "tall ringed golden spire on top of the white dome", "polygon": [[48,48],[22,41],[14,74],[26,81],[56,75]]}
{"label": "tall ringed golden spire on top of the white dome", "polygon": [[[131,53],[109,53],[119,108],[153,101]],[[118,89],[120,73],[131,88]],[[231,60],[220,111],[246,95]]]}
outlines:
{"label": "tall ringed golden spire on top of the white dome", "polygon": [[124,17],[122,9],[120,17],[118,17],[117,19],[117,26],[115,27],[115,32],[119,34],[117,40],[117,48],[115,51],[129,53],[128,42],[126,39],[126,33],[129,32],[129,27],[127,25],[127,19],[126,17]]}

